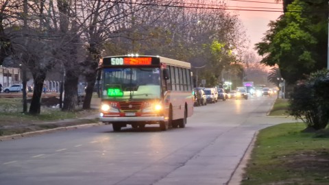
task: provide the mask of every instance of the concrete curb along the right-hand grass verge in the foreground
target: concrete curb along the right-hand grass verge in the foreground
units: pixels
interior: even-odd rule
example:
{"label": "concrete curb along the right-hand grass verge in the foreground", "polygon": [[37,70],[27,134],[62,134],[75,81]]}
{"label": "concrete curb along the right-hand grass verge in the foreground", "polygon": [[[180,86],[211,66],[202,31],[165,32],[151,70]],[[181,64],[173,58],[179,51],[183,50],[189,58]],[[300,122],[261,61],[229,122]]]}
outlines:
{"label": "concrete curb along the right-hand grass verge in the foreground", "polygon": [[252,154],[252,149],[254,149],[254,144],[256,142],[258,132],[254,134],[254,137],[252,138],[252,141],[249,143],[247,149],[245,150],[245,153],[243,154],[243,157],[241,158],[238,166],[232,173],[232,176],[230,177],[230,180],[228,180],[228,185],[237,185],[241,184],[241,181],[243,180],[243,173],[245,172],[244,169],[247,166],[248,160],[250,159],[250,156]]}

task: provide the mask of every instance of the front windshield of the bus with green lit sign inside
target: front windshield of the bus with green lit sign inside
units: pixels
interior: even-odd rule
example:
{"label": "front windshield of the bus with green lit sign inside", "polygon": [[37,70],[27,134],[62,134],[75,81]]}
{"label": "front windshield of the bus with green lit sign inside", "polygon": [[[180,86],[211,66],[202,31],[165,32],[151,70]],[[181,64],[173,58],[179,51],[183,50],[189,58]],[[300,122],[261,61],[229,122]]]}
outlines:
{"label": "front windshield of the bus with green lit sign inside", "polygon": [[160,68],[103,69],[103,99],[160,99]]}

